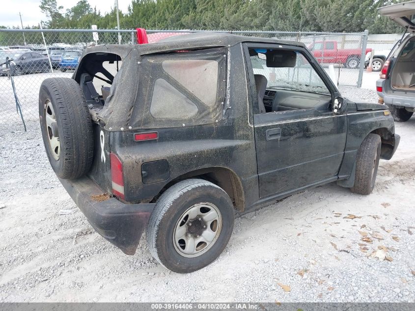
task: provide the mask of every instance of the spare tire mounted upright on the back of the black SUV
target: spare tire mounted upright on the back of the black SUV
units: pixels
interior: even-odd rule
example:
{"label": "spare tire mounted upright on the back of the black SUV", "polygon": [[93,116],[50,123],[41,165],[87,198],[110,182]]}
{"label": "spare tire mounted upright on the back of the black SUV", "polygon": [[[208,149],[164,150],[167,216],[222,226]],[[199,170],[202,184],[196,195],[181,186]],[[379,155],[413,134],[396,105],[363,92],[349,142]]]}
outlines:
{"label": "spare tire mounted upright on the back of the black SUV", "polygon": [[46,154],[56,175],[75,179],[91,167],[92,121],[80,85],[69,78],[45,79],[39,91],[39,117]]}

